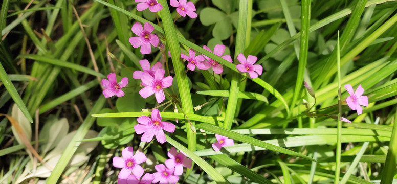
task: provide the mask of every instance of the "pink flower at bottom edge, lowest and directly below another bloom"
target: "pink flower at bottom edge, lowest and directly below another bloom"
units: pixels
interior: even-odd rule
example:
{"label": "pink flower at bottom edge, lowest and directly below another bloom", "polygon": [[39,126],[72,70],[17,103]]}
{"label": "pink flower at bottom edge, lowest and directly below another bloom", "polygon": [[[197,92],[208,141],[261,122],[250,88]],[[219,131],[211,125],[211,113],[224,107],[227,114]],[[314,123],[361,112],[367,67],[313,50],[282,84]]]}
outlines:
{"label": "pink flower at bottom edge, lowest and directly below another bloom", "polygon": [[153,176],[155,176],[155,180],[153,180],[153,183],[157,183],[160,181],[160,184],[175,184],[178,182],[179,177],[172,174],[174,168],[169,169],[166,168],[164,164],[158,164],[155,166],[155,169],[157,172],[153,173]]}

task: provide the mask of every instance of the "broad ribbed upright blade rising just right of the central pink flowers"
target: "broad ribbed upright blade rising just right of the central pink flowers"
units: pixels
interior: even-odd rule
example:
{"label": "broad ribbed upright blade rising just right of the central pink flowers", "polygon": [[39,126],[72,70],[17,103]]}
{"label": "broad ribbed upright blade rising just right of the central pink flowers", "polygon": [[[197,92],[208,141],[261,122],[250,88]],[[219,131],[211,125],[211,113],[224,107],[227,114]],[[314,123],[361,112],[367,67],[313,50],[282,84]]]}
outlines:
{"label": "broad ribbed upright blade rising just right of the central pink flowers", "polygon": [[[168,9],[168,3],[166,0],[159,0],[159,3],[163,6],[160,11],[161,18],[163,20],[164,33],[167,40],[167,47],[171,53],[172,65],[175,71],[175,78],[177,79],[179,95],[181,97],[182,108],[186,114],[194,114],[192,98],[190,96],[190,89],[188,78],[185,72],[185,65],[180,60],[181,48],[178,42],[177,31],[175,31],[171,13]],[[193,129],[195,123],[191,122]],[[187,140],[188,148],[190,151],[196,150],[196,134],[191,131],[189,122],[186,122],[187,129]]]}

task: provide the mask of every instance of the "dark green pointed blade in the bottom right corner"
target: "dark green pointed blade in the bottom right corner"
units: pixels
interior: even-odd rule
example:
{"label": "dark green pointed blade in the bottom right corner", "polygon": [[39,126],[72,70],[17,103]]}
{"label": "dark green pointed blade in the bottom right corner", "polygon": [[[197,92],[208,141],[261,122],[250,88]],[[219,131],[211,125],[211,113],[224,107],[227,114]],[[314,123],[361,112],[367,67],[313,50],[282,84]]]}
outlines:
{"label": "dark green pointed blade in the bottom right corner", "polygon": [[395,175],[395,165],[397,160],[397,112],[394,116],[393,131],[389,143],[389,151],[387,151],[385,167],[382,171],[381,184],[392,183]]}

